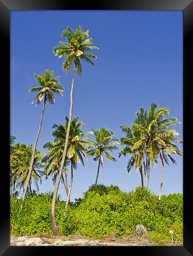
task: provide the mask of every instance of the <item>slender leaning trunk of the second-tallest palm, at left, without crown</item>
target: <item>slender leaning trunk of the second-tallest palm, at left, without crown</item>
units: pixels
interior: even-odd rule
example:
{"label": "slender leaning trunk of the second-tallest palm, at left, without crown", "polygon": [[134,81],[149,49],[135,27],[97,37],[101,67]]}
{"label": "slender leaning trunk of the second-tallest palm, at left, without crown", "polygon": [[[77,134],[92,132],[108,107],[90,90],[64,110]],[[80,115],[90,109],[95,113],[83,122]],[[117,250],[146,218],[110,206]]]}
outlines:
{"label": "slender leaning trunk of the second-tallest palm, at left, without crown", "polygon": [[42,116],[41,116],[41,119],[40,119],[40,125],[39,125],[39,129],[38,129],[38,133],[36,135],[35,143],[34,143],[34,146],[33,146],[33,152],[32,152],[31,163],[30,163],[30,167],[29,167],[29,173],[28,173],[28,176],[27,176],[27,181],[25,183],[24,195],[22,197],[23,200],[25,200],[27,187],[29,185],[29,180],[31,178],[31,172],[32,172],[32,167],[33,167],[33,162],[34,162],[34,157],[35,157],[35,150],[36,150],[36,145],[37,145],[37,142],[38,142],[38,137],[39,137],[41,126],[42,126],[42,120],[43,120],[43,116],[44,116],[45,107],[46,107],[46,94],[44,95],[44,106],[43,106],[43,110],[42,110]]}

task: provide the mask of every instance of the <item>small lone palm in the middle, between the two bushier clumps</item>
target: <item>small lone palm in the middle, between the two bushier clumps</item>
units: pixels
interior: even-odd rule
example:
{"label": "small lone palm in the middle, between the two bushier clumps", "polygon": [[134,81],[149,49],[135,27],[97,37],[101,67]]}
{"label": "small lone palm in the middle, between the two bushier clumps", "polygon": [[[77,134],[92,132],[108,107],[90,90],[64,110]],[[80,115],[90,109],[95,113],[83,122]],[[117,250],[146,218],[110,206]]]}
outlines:
{"label": "small lone palm in the middle, between the two bushier clumps", "polygon": [[93,130],[93,134],[95,136],[95,141],[89,139],[89,143],[85,146],[92,148],[90,150],[86,150],[84,153],[87,154],[87,158],[89,156],[93,157],[94,161],[98,160],[98,169],[97,169],[97,177],[95,180],[95,186],[97,186],[98,174],[100,165],[103,167],[104,165],[104,155],[110,161],[117,161],[113,156],[109,155],[107,151],[113,152],[113,150],[118,150],[121,148],[119,146],[115,146],[113,144],[119,144],[119,140],[113,138],[114,133],[112,131],[107,130],[104,127],[100,127],[99,130]]}

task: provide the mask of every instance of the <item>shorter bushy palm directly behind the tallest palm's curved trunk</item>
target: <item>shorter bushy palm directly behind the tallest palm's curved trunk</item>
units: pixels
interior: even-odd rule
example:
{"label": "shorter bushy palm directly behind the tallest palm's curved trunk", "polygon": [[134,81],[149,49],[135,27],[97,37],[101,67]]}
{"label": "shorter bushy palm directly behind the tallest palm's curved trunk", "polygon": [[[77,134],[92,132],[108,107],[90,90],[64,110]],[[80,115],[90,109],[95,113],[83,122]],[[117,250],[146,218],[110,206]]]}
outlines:
{"label": "shorter bushy palm directly behind the tallest palm's curved trunk", "polygon": [[[81,126],[84,126],[84,123],[82,121],[78,122],[79,117],[74,117],[71,121],[70,125],[70,132],[69,132],[69,139],[68,139],[68,146],[67,146],[67,158],[64,164],[64,170],[66,171],[66,166],[71,165],[71,180],[69,184],[69,188],[67,185],[67,178],[66,178],[66,191],[67,191],[67,202],[66,202],[66,208],[69,204],[70,200],[70,194],[71,194],[71,187],[73,182],[73,169],[77,169],[77,162],[82,163],[84,165],[84,160],[82,156],[84,156],[84,151],[86,148],[84,145],[88,143],[88,140],[86,137],[84,137],[86,134],[91,134],[92,132],[85,132],[83,133],[81,130]],[[62,152],[66,140],[66,132],[67,132],[67,126],[68,126],[69,119],[66,117],[66,124],[59,126],[57,124],[54,124],[52,128],[55,128],[55,130],[52,133],[52,136],[55,138],[54,142],[48,142],[44,145],[44,148],[49,148],[49,151],[44,153],[47,154],[44,158],[44,161],[47,159],[49,160],[49,163],[47,164],[46,168],[47,171],[49,170],[55,170],[55,173],[58,175],[58,170],[61,159],[62,159]],[[58,166],[58,169],[56,170],[56,164]],[[63,183],[64,178],[62,179]]]}

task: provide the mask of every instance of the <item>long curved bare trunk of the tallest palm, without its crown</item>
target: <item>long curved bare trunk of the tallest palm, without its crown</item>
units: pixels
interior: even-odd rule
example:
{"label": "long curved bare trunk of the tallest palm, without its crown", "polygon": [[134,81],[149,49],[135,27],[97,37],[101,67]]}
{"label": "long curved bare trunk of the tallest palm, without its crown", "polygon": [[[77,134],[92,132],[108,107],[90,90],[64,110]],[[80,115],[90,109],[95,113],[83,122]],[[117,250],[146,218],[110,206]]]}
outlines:
{"label": "long curved bare trunk of the tallest palm, without its crown", "polygon": [[55,234],[55,235],[60,234],[60,230],[56,226],[56,222],[55,222],[55,202],[56,202],[56,195],[58,192],[58,187],[59,187],[60,179],[62,176],[62,170],[64,167],[64,163],[66,160],[66,154],[67,154],[67,145],[68,145],[68,138],[69,138],[69,132],[70,132],[70,124],[71,124],[71,119],[72,119],[74,77],[75,77],[75,59],[74,59],[74,65],[73,65],[73,77],[72,77],[72,85],[71,85],[71,93],[70,93],[69,121],[68,121],[68,126],[67,126],[67,131],[66,131],[66,140],[65,140],[64,152],[63,152],[63,156],[62,156],[62,161],[60,163],[58,180],[56,182],[56,187],[55,187],[55,191],[54,191],[54,195],[53,195],[53,199],[52,199],[52,207],[51,207],[51,230],[52,230],[52,234]]}

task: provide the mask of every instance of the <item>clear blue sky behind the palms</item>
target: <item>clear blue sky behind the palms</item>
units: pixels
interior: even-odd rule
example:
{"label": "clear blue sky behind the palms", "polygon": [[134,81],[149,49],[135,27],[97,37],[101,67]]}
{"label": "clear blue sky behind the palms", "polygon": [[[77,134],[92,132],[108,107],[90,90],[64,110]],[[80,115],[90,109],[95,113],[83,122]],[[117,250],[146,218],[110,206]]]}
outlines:
{"label": "clear blue sky behind the palms", "polygon": [[[101,126],[113,130],[116,138],[123,137],[119,126],[130,126],[135,112],[143,106],[149,109],[152,102],[159,108],[168,107],[170,117],[182,124],[173,126],[182,138],[182,65],[183,65],[183,12],[182,11],[11,11],[11,111],[10,133],[16,143],[33,144],[42,113],[42,104],[31,104],[36,93],[28,93],[37,85],[34,73],[44,69],[54,70],[64,86],[63,97],[56,95],[54,105],[47,105],[37,150],[53,141],[52,125],[64,124],[69,115],[69,94],[72,70],[62,70],[63,58],[56,57],[52,49],[59,44],[62,31],[67,26],[78,26],[93,38],[93,50],[97,55],[96,66],[82,63],[82,78],[75,74],[73,116],[79,117],[85,126],[83,132]],[[93,139],[93,135],[89,135]],[[182,145],[178,145],[182,150]],[[115,184],[123,191],[135,189],[141,183],[135,169],[127,173],[129,156],[118,161],[105,160],[100,168],[98,183]],[[175,156],[178,165],[165,165],[162,194],[183,193],[182,157]],[[74,171],[71,200],[95,182],[97,162],[92,159],[78,164]],[[161,166],[158,161],[151,167],[149,189],[156,195],[160,189]],[[146,182],[146,178],[145,178]],[[53,189],[49,178],[42,178],[40,193]],[[35,186],[32,185],[32,188]],[[66,200],[64,186],[58,193]]]}

